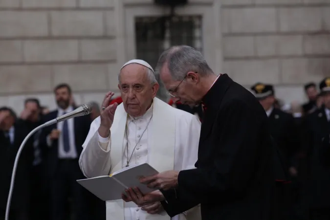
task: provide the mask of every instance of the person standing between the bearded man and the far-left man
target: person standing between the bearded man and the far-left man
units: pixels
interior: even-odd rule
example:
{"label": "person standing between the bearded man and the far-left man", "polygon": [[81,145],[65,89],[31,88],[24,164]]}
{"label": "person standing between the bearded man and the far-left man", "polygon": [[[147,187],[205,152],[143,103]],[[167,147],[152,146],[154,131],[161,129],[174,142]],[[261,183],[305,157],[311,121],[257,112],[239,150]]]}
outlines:
{"label": "person standing between the bearded man and the far-left man", "polygon": [[[24,110],[21,119],[25,122],[28,132],[42,124],[42,108],[36,98],[28,98],[24,101]],[[31,205],[30,219],[49,219],[49,182],[46,178],[47,167],[45,166],[45,146],[40,144],[40,134],[37,131],[31,137],[33,146],[33,161],[31,169]]]}

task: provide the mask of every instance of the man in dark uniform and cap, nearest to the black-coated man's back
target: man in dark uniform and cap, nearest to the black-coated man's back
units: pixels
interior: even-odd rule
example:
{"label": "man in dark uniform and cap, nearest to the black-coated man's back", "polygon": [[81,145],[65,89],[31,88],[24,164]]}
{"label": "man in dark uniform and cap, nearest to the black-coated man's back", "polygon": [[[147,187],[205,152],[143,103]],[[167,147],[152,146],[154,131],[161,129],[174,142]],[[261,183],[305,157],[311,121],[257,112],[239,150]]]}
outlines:
{"label": "man in dark uniform and cap, nearest to the black-coated man's back", "polygon": [[[300,150],[299,133],[292,114],[286,113],[279,108],[275,108],[275,91],[273,85],[256,83],[251,87],[252,93],[263,106],[269,121],[270,134],[274,138],[283,156],[283,163],[286,171],[289,169],[294,174],[297,170],[297,152]],[[283,184],[282,180],[277,180],[277,188],[286,195],[277,194],[278,205],[284,211],[282,219],[290,218],[293,214],[294,204],[298,202],[299,187],[296,175],[291,176],[292,184]],[[294,190],[294,191],[291,191]],[[294,194],[292,194],[294,193]],[[291,219],[291,218],[290,218]]]}

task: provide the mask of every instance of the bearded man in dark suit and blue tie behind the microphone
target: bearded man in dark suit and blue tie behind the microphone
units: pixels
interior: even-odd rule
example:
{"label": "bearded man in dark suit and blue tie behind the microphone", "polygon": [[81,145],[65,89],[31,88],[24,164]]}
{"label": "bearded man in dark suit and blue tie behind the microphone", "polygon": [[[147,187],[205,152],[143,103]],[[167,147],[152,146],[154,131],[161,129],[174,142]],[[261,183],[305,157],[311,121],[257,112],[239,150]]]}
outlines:
{"label": "bearded man in dark suit and blue tie behind the microphone", "polygon": [[[54,89],[58,109],[44,116],[50,121],[75,109],[70,105],[71,88],[60,84]],[[89,115],[68,119],[44,128],[42,143],[47,146],[47,167],[50,181],[51,219],[64,220],[66,204],[72,198],[73,215],[77,220],[88,219],[86,190],[76,180],[84,178],[78,159],[89,131]]]}

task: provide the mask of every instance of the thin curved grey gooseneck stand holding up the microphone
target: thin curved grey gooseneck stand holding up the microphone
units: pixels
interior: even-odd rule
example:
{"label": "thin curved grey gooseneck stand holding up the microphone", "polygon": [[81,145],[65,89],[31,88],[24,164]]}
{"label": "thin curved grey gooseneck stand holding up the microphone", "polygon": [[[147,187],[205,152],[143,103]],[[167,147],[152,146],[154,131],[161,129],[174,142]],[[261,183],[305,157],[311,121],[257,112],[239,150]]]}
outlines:
{"label": "thin curved grey gooseneck stand holding up the microphone", "polygon": [[10,189],[9,189],[9,194],[8,194],[8,199],[7,199],[7,206],[6,206],[6,215],[5,215],[5,220],[8,220],[8,217],[9,217],[9,207],[10,207],[10,202],[11,202],[11,197],[12,197],[12,194],[13,194],[13,188],[14,188],[14,181],[15,181],[15,174],[16,174],[16,169],[17,169],[17,165],[18,165],[18,161],[19,161],[19,158],[20,158],[20,155],[22,153],[22,150],[23,150],[23,147],[24,145],[26,144],[27,140],[35,133],[37,132],[38,130],[40,129],[43,129],[44,127],[47,127],[49,125],[52,125],[52,124],[56,124],[58,121],[57,119],[53,119],[53,120],[50,120],[40,126],[38,126],[37,128],[33,129],[23,140],[17,154],[16,154],[16,158],[15,158],[15,162],[14,162],[14,168],[13,168],[13,173],[11,175],[11,182],[10,182]]}

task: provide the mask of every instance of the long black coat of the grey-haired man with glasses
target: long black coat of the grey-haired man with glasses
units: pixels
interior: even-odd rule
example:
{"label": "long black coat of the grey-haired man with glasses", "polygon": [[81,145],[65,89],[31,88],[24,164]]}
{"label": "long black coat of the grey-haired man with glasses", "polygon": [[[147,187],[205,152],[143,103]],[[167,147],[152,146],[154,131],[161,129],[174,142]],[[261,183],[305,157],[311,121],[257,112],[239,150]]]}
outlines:
{"label": "long black coat of the grey-haired man with glasses", "polygon": [[203,220],[275,219],[277,153],[264,109],[227,74],[202,101],[197,169],[181,171],[178,187],[162,191],[164,209],[173,217],[200,203]]}

